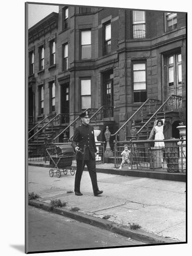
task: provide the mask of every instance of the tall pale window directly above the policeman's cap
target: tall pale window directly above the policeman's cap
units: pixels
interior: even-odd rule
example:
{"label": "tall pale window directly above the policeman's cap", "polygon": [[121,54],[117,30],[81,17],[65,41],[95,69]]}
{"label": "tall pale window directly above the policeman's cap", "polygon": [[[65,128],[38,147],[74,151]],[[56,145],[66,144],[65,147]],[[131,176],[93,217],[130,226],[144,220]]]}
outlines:
{"label": "tall pale window directly above the policeman's cap", "polygon": [[91,107],[91,81],[90,79],[81,80],[81,108]]}

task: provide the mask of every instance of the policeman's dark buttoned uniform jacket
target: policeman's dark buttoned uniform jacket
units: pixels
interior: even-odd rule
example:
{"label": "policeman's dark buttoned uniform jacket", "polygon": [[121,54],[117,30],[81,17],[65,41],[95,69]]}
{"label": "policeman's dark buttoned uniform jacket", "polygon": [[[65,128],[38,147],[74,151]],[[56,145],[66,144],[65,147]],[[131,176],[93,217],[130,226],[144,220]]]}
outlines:
{"label": "policeman's dark buttoned uniform jacket", "polygon": [[[72,147],[75,150],[76,147],[81,148],[83,151],[85,145],[85,158],[84,160],[95,159],[96,142],[93,127],[90,125],[81,125],[75,129],[72,141]],[[81,152],[77,153],[77,160],[83,160]]]}

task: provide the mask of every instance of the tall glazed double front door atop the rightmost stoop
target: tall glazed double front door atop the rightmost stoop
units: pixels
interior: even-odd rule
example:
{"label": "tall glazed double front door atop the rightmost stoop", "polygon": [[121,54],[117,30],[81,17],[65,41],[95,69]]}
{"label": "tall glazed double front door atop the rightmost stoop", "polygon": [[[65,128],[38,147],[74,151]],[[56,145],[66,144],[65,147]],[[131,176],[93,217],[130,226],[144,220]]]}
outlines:
{"label": "tall glazed double front door atop the rightmost stoop", "polygon": [[[164,84],[164,101],[171,96],[182,96],[182,62],[181,54],[169,54],[164,58],[165,67],[165,84]],[[173,104],[173,108],[178,108],[179,101],[170,101],[169,105]]]}

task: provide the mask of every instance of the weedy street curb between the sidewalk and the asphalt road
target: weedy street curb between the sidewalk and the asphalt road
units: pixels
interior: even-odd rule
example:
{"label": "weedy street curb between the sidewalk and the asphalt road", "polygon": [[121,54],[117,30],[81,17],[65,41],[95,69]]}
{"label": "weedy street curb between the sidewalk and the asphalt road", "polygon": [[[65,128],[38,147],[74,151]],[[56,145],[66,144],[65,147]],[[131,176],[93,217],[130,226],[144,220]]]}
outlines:
{"label": "weedy street curb between the sidewalk and the asphalt road", "polygon": [[106,229],[111,232],[115,232],[119,235],[126,236],[126,237],[131,237],[134,240],[148,243],[148,244],[160,244],[160,243],[185,243],[185,242],[178,242],[178,240],[174,240],[172,238],[167,238],[167,237],[161,237],[155,234],[147,233],[144,231],[135,231],[135,230],[130,230],[128,229],[127,226],[122,226],[113,222],[110,222],[108,220],[96,218],[94,216],[89,216],[80,212],[71,212],[70,210],[67,209],[59,209],[59,208],[52,208],[50,207],[50,204],[41,202],[38,200],[29,200],[28,204],[30,206],[40,208],[46,211],[50,211],[52,213],[56,213],[62,216],[66,216],[72,219],[75,219],[80,222],[84,222],[93,226],[96,226],[101,229]]}

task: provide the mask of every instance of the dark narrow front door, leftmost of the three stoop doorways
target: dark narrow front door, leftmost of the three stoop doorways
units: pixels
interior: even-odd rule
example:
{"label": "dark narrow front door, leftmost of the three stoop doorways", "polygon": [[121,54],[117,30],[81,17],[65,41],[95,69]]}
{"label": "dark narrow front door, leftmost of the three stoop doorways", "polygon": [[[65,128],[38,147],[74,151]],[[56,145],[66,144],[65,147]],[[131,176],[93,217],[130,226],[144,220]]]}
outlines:
{"label": "dark narrow front door, leftmost of the three stoop doorways", "polygon": [[62,123],[69,122],[69,83],[61,85],[61,114]]}

